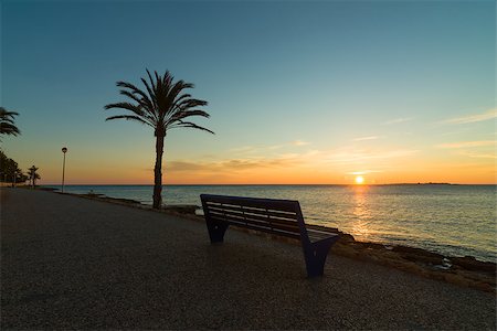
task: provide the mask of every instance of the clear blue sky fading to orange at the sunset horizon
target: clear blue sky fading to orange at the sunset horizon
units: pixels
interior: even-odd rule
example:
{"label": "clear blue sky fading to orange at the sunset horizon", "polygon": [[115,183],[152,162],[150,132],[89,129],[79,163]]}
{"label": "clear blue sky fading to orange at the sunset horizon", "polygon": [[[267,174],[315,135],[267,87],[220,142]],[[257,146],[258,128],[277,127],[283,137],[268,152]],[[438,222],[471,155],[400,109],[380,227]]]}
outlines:
{"label": "clear blue sky fading to orange at the sunset horizon", "polygon": [[193,83],[166,184],[497,183],[495,1],[1,1],[1,148],[41,184],[152,184],[117,81]]}

